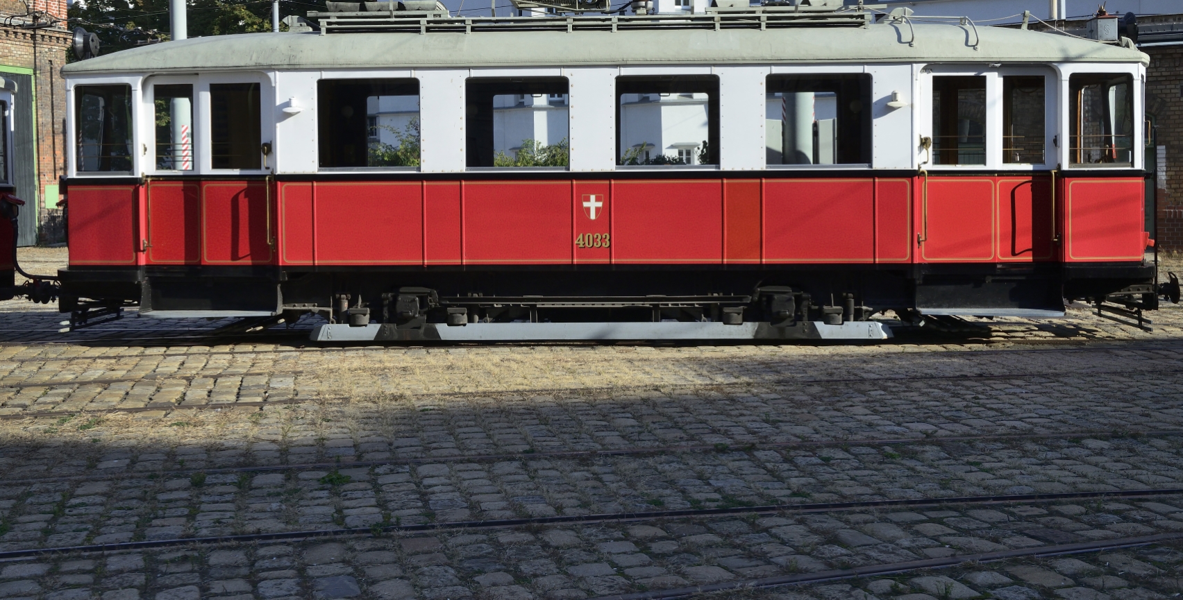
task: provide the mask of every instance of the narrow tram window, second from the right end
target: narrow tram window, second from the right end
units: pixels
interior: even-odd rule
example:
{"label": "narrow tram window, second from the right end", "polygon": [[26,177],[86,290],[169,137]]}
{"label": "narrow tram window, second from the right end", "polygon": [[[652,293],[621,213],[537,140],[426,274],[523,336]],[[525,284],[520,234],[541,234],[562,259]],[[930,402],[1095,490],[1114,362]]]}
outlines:
{"label": "narrow tram window, second from the right end", "polygon": [[1043,78],[1002,78],[1002,162],[1043,163]]}

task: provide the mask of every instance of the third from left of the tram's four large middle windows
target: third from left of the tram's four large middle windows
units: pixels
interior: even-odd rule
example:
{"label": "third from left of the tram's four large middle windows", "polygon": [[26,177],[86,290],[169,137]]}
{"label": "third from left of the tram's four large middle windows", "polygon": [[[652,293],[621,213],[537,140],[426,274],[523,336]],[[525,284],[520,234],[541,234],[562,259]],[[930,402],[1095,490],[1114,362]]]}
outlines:
{"label": "third from left of the tram's four large middle windows", "polygon": [[719,164],[719,78],[618,77],[616,164]]}

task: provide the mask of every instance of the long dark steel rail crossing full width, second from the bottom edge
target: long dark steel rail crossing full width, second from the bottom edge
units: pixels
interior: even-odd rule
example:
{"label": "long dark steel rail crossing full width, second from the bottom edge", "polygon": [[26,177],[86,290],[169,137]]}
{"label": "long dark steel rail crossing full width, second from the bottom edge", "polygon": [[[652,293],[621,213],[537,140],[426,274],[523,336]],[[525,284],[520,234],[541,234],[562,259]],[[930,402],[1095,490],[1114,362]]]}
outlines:
{"label": "long dark steel rail crossing full width, second from the bottom edge", "polygon": [[[96,552],[132,550],[132,549],[144,549],[144,548],[167,548],[173,546],[186,546],[186,544],[267,542],[278,540],[300,540],[309,537],[328,537],[328,536],[347,536],[347,535],[379,536],[386,533],[418,533],[418,531],[439,531],[450,529],[508,529],[508,528],[524,527],[524,526],[654,521],[660,519],[694,519],[694,517],[717,516],[717,515],[742,515],[742,514],[767,514],[767,513],[812,514],[812,513],[838,513],[847,510],[883,509],[883,508],[918,508],[918,507],[952,506],[952,504],[981,506],[981,504],[1006,504],[1015,502],[1043,503],[1043,502],[1058,502],[1064,500],[1136,498],[1136,497],[1157,497],[1157,496],[1178,496],[1178,495],[1183,495],[1183,488],[1163,488],[1163,489],[1127,490],[1127,491],[1071,491],[1061,494],[958,496],[950,498],[924,498],[924,500],[871,500],[860,502],[819,502],[809,504],[804,503],[768,504],[762,507],[628,511],[628,513],[606,513],[599,515],[497,519],[487,521],[453,521],[453,522],[435,522],[435,523],[416,523],[406,526],[390,524],[390,526],[351,527],[351,528],[338,528],[338,529],[278,531],[278,533],[266,533],[266,534],[260,533],[260,534],[220,535],[209,537],[176,537],[170,540],[97,543],[97,544],[84,544],[84,546],[59,546],[51,548],[27,548],[22,550],[0,552],[0,561],[11,561],[14,559],[25,559],[30,556],[43,556],[46,554],[66,554],[66,553],[82,554],[82,553],[96,553]],[[1183,533],[1159,534],[1159,535],[1183,536]],[[1108,542],[1113,542],[1113,540],[1108,540]],[[963,560],[965,559],[963,557]]]}

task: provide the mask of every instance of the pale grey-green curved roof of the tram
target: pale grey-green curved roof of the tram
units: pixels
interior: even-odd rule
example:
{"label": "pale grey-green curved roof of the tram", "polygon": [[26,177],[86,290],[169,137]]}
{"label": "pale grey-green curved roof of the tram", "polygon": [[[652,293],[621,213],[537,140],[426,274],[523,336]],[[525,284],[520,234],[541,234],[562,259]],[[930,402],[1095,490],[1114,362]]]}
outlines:
{"label": "pale grey-green curved roof of the tram", "polygon": [[[463,20],[460,20],[463,22]],[[909,39],[914,32],[914,44]],[[977,50],[974,41],[981,40]],[[800,63],[1137,63],[1133,48],[969,25],[629,31],[246,33],[168,41],[72,63],[67,74],[235,70],[646,66]]]}

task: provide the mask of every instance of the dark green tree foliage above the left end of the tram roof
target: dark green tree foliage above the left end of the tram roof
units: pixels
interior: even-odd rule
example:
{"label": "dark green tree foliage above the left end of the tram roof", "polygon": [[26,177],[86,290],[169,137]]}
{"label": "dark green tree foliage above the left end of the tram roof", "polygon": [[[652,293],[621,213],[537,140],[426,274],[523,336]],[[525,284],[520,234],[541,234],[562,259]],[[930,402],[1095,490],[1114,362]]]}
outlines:
{"label": "dark green tree foliage above the left end of the tram roof", "polygon": [[[188,0],[188,7],[189,38],[271,31],[269,0]],[[318,9],[324,9],[324,0],[279,0],[280,19]],[[70,5],[69,17],[71,28],[98,34],[103,54],[172,39],[168,0],[78,0]]]}

